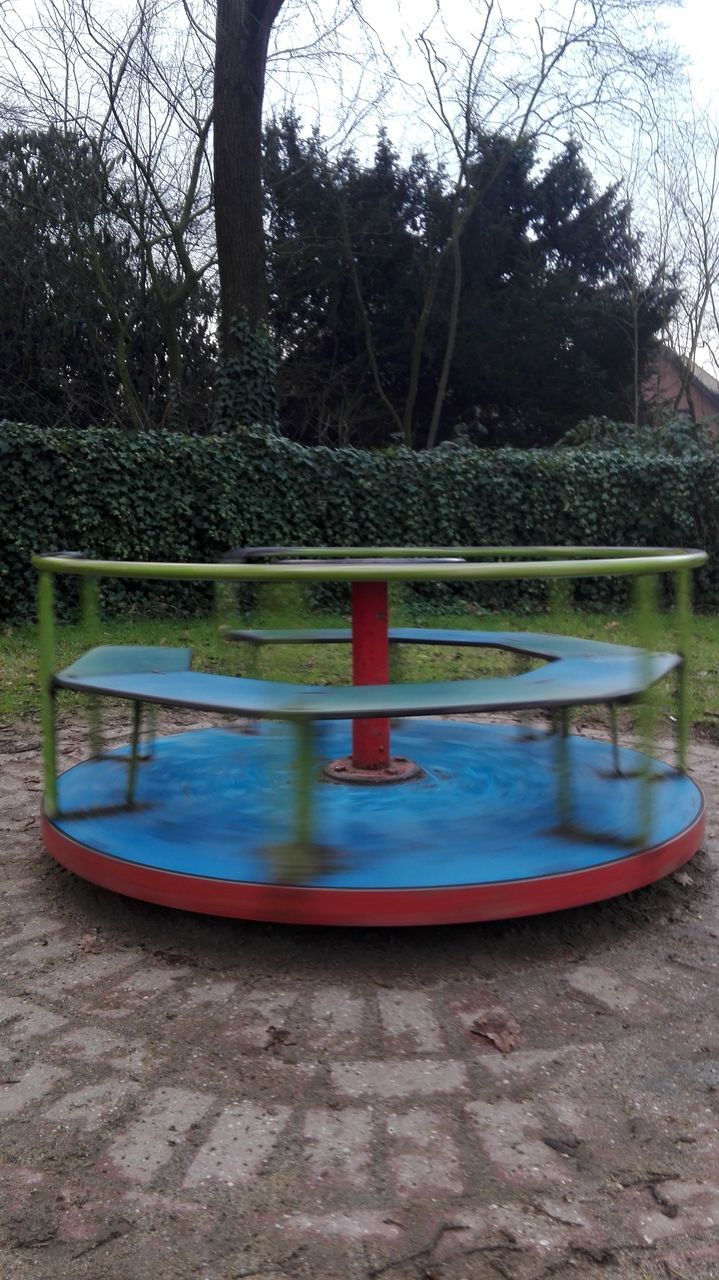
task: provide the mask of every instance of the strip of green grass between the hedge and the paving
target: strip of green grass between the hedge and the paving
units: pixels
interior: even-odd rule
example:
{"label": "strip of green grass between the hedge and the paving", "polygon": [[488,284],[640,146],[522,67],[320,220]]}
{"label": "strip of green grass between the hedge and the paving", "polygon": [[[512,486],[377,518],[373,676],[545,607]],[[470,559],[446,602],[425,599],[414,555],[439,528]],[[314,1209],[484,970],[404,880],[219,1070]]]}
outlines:
{"label": "strip of green grass between the hedge and the paving", "polygon": [[[312,614],[303,620],[313,627],[347,626],[348,620],[334,614]],[[417,625],[409,616],[393,617],[397,625]],[[262,614],[244,620],[243,625],[287,626],[287,620]],[[471,612],[426,616],[418,623],[427,627],[477,627],[480,630],[554,631],[565,635],[636,644],[631,614],[578,613],[563,611],[527,616],[495,613],[478,616]],[[719,620],[696,616],[692,627],[691,696],[693,721],[706,728],[719,728]],[[56,636],[58,669],[73,660],[87,640],[79,626],[59,626]],[[203,671],[253,675],[248,646],[228,644],[217,635],[211,618],[113,618],[101,628],[104,644],[168,644],[191,645],[194,666]],[[670,614],[656,617],[654,648],[676,648],[674,620]],[[516,657],[495,650],[432,649],[425,645],[402,646],[399,653],[402,680],[458,680],[468,676],[503,675],[516,669]],[[10,626],[0,635],[0,718],[8,723],[33,716],[37,708],[37,628],[32,625]],[[257,673],[265,678],[302,684],[345,684],[351,678],[348,645],[278,645],[261,650]],[[660,705],[672,710],[672,687],[663,686]],[[75,705],[65,695],[65,705]]]}

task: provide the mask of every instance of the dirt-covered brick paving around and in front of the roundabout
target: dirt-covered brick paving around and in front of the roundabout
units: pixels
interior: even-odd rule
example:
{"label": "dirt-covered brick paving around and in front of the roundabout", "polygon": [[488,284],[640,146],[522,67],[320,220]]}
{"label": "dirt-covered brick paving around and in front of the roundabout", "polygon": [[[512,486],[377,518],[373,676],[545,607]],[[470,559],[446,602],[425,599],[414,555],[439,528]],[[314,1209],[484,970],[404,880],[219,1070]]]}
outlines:
{"label": "dirt-covered brick paving around and in front of the roundabout", "polygon": [[[35,732],[3,731],[1,1280],[719,1276],[718,760],[688,877],[301,931],[61,870]],[[512,1053],[471,1032],[496,1005]]]}

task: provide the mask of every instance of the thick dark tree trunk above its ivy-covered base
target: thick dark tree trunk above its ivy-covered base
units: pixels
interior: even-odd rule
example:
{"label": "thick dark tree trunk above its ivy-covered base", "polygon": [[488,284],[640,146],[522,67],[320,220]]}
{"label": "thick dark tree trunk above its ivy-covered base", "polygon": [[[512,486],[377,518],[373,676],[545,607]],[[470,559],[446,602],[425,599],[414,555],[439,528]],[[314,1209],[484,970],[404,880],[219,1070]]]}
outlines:
{"label": "thick dark tree trunk above its ivy-covered base", "polygon": [[267,45],[283,0],[217,0],[215,52],[215,228],[223,355],[232,321],[267,317],[262,227],[262,97]]}

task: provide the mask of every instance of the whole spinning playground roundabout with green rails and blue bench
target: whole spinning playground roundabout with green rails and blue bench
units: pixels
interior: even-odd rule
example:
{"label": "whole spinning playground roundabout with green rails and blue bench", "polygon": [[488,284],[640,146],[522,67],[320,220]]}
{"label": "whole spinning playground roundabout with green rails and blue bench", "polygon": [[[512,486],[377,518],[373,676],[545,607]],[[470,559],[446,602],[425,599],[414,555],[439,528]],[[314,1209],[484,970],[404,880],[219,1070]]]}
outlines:
{"label": "whole spinning playground roundabout with green rails and blue bench", "polygon": [[[704,561],[701,552],[632,548],[255,548],[215,564],[36,557],[45,844],[78,876],[130,897],[287,923],[496,919],[647,884],[692,858],[704,836],[702,795],[686,767],[690,577]],[[659,599],[652,586],[663,580],[677,652],[389,625],[391,581],[608,573],[637,580],[645,635]],[[79,580],[88,634],[105,577],[351,582],[347,630],[233,625],[224,639],[252,653],[347,643],[352,685],[196,671],[188,649],[165,646],[96,645],[56,671],[55,575]],[[412,644],[505,650],[517,671],[390,680],[390,652]],[[663,681],[676,682],[676,764],[652,753],[654,691]],[[86,699],[91,727],[88,759],[60,776],[59,690]],[[132,707],[129,742],[111,751],[99,733],[105,699]],[[232,719],[156,737],[154,704]],[[608,708],[606,741],[572,732],[572,709],[587,704]],[[627,707],[641,749],[619,741],[618,710]],[[530,722],[528,712],[545,721]],[[518,722],[495,723],[496,713],[516,713]]]}

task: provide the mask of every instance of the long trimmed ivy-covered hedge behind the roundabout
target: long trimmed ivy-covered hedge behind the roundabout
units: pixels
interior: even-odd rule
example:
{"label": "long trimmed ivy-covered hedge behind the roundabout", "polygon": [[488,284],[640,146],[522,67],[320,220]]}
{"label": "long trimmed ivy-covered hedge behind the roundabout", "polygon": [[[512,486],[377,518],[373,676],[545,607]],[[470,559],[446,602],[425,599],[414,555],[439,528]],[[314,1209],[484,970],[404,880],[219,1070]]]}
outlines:
{"label": "long trimmed ivy-covered hedge behind the roundabout", "polygon": [[[631,451],[429,453],[304,448],[260,429],[215,439],[0,424],[0,617],[35,616],[33,552],[214,561],[233,545],[637,544],[704,547],[697,603],[719,604],[719,457]],[[541,584],[445,588],[539,599]],[[435,603],[443,589],[434,589]],[[620,599],[594,581],[578,599]],[[421,594],[421,593],[420,593]],[[182,608],[196,586],[113,584],[118,608]]]}

